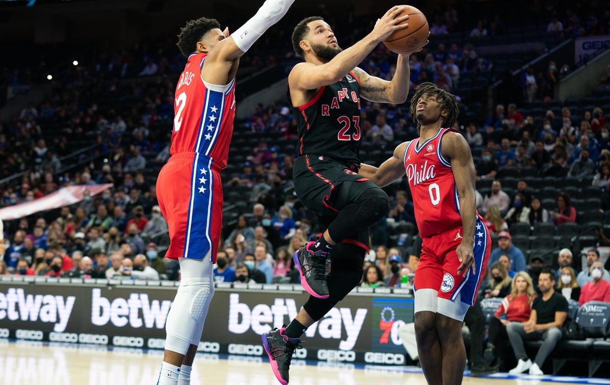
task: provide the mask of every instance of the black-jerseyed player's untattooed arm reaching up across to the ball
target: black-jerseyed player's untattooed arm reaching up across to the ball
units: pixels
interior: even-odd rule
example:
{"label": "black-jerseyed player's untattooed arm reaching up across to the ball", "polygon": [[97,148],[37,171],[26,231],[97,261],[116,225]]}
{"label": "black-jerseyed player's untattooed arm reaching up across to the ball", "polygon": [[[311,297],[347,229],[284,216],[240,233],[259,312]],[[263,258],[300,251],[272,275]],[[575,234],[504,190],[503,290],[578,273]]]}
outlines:
{"label": "black-jerseyed player's untattooed arm reaching up across to the ball", "polygon": [[[403,9],[403,6],[398,5],[389,9],[381,19],[377,20],[375,28],[373,28],[373,31],[370,34],[350,48],[337,54],[336,57],[329,60],[328,63],[323,63],[321,65],[316,65],[314,63],[299,63],[296,65],[288,77],[290,88],[298,90],[316,90],[325,85],[338,82],[343,76],[348,74],[362,62],[362,60],[375,49],[377,44],[386,40],[393,32],[408,26],[407,23],[400,24],[409,18],[408,15],[395,18],[403,12]],[[312,33],[324,34],[329,41],[334,39],[334,33],[328,24],[319,24]],[[310,43],[307,40],[301,40],[299,44],[302,49],[311,48]]]}

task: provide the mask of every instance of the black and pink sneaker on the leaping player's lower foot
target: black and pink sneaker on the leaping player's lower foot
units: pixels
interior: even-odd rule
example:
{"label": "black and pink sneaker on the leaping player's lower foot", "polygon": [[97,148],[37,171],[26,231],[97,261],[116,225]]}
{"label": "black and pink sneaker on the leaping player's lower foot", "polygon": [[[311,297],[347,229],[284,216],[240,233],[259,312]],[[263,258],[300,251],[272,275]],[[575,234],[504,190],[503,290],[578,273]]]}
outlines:
{"label": "black and pink sneaker on the leaping player's lower foot", "polygon": [[262,334],[263,347],[269,357],[271,370],[282,385],[288,384],[290,361],[296,349],[302,349],[301,340],[284,336],[284,329],[274,328],[269,333]]}

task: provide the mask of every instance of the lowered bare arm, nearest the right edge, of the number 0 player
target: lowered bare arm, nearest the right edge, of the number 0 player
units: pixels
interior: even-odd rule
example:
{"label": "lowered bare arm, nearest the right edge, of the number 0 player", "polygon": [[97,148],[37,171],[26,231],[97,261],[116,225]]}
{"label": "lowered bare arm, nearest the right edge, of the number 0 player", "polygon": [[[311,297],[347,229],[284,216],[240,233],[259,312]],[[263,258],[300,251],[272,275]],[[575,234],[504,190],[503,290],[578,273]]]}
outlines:
{"label": "lowered bare arm, nearest the right edge, of the number 0 player", "polygon": [[464,136],[456,132],[448,132],[443,138],[442,155],[450,159],[451,171],[459,195],[460,215],[462,217],[462,242],[456,253],[461,265],[458,274],[466,275],[472,266],[476,272],[473,256],[476,225],[476,198],[475,198],[475,163],[472,160],[470,146]]}

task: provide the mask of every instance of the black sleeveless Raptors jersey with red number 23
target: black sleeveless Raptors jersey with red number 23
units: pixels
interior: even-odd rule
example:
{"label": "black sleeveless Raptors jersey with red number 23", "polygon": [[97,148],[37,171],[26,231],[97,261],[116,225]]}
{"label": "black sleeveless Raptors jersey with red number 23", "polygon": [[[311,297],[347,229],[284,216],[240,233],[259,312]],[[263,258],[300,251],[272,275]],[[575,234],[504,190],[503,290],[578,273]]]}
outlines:
{"label": "black sleeveless Raptors jersey with red number 23", "polygon": [[[290,100],[290,90],[288,91]],[[300,155],[322,155],[360,165],[360,85],[353,72],[321,87],[307,104],[293,107]]]}

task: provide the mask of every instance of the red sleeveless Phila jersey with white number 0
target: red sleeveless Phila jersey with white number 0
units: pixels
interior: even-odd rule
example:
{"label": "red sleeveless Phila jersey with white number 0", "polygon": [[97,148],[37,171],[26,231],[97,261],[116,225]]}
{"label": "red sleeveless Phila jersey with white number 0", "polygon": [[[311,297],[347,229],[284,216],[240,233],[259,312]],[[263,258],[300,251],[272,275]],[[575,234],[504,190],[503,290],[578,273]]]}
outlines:
{"label": "red sleeveless Phila jersey with white number 0", "polygon": [[462,227],[451,164],[440,154],[443,135],[450,130],[454,131],[440,129],[425,143],[420,143],[419,138],[412,140],[404,151],[404,168],[422,238]]}

